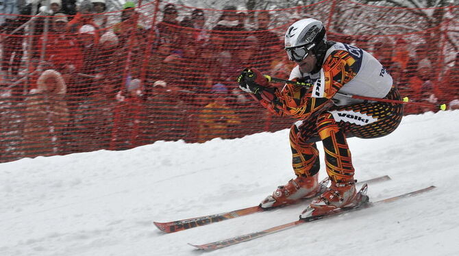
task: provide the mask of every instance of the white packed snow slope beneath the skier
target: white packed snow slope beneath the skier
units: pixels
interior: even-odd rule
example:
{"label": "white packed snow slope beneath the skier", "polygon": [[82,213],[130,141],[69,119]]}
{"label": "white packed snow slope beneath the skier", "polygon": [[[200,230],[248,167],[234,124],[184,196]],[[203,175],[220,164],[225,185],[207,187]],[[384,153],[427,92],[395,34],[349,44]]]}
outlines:
{"label": "white packed snow slope beneath the skier", "polygon": [[[369,186],[371,200],[435,190],[204,254],[459,255],[458,125],[459,111],[427,113],[384,138],[349,139],[356,179],[392,177]],[[290,222],[306,205],[171,234],[153,220],[257,205],[293,178],[290,161],[284,130],[0,164],[0,255],[201,255],[186,243]]]}

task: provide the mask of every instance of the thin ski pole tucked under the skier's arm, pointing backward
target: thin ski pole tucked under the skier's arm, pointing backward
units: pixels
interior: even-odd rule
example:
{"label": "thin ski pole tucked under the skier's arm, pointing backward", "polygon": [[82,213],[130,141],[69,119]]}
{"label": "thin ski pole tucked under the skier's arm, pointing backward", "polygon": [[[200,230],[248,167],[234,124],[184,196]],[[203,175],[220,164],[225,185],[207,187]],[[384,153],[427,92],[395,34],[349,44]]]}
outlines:
{"label": "thin ski pole tucked under the skier's arm, pointing backward", "polygon": [[[292,81],[292,80],[287,80],[287,79],[282,79],[282,78],[277,78],[277,77],[271,77],[269,75],[264,75],[266,79],[268,79],[269,82],[279,82],[279,83],[286,83],[286,84],[295,84],[295,86],[303,86],[303,87],[312,87],[313,84],[310,83],[305,83],[302,81]],[[362,99],[366,101],[380,101],[380,102],[387,102],[387,103],[399,103],[399,104],[410,104],[410,105],[419,105],[423,107],[436,107],[440,110],[446,110],[446,104],[432,104],[432,103],[421,103],[421,102],[413,102],[410,101],[408,97],[404,97],[402,101],[397,101],[394,99],[380,99],[380,98],[373,98],[373,97],[364,97],[364,96],[359,96],[359,95],[352,95],[352,94],[343,94],[339,93],[340,95],[344,97],[349,97],[352,99]]]}

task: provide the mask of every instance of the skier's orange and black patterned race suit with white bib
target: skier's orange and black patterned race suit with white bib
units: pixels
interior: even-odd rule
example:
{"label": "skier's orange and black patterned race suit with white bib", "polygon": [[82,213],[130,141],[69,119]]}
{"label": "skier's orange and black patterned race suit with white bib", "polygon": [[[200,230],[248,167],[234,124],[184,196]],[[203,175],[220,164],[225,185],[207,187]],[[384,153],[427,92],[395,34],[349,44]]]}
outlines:
{"label": "skier's orange and black patterned race suit with white bib", "polygon": [[286,84],[275,90],[274,99],[260,99],[271,112],[293,116],[299,121],[290,129],[290,146],[295,174],[311,177],[319,172],[320,138],[330,179],[353,181],[354,168],[346,138],[377,138],[393,132],[399,125],[403,106],[395,103],[367,102],[343,97],[400,100],[392,77],[375,57],[349,44],[327,42],[327,52],[317,73],[301,73],[296,66],[290,79],[313,84],[312,88]]}

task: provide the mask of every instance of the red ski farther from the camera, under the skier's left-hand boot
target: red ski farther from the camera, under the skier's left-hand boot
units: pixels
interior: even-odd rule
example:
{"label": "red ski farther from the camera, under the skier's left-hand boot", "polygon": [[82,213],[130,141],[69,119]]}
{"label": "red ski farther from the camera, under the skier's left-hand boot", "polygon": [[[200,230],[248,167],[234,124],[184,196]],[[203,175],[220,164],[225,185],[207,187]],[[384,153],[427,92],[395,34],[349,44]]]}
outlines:
{"label": "red ski farther from the camera, under the skier's left-hand boot", "polygon": [[[367,181],[361,181],[359,183],[377,183],[377,182],[388,181],[388,180],[390,180],[390,177],[388,175],[384,175],[380,177],[375,177],[373,179],[369,179]],[[318,194],[321,194],[321,192],[322,191],[319,191]],[[312,198],[308,198],[308,199],[312,199]],[[299,200],[298,202],[305,201],[308,199]],[[278,209],[278,208],[285,207],[285,206],[286,205],[282,205],[279,207],[271,207],[269,209],[264,209],[260,207],[260,205],[256,205],[256,206],[247,207],[243,209],[236,209],[230,212],[224,212],[221,214],[211,214],[211,215],[206,215],[206,216],[201,216],[201,217],[196,217],[196,218],[175,220],[171,222],[153,222],[153,224],[156,225],[156,227],[158,227],[158,229],[160,229],[160,231],[163,231],[164,233],[174,233],[174,232],[183,231],[186,229],[191,229],[193,227],[209,225],[215,222],[221,222],[223,220],[229,220],[229,219],[237,218],[240,216],[255,214],[256,212],[264,212],[264,211],[269,211],[271,209]]]}

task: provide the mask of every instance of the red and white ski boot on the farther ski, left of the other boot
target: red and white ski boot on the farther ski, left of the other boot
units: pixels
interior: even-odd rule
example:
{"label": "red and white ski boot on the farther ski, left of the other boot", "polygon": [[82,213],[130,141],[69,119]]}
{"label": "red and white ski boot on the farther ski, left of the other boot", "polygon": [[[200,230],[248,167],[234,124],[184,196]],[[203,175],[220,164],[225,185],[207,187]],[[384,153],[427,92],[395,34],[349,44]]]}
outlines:
{"label": "red and white ski boot on the farther ski, left of the other boot", "polygon": [[295,203],[303,198],[311,198],[317,196],[327,188],[328,178],[318,182],[319,173],[312,177],[297,177],[290,179],[286,185],[280,185],[273,192],[272,196],[267,196],[260,203],[260,207],[268,209],[280,205],[288,205]]}

